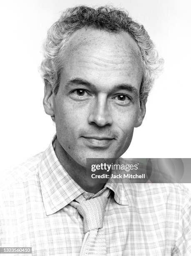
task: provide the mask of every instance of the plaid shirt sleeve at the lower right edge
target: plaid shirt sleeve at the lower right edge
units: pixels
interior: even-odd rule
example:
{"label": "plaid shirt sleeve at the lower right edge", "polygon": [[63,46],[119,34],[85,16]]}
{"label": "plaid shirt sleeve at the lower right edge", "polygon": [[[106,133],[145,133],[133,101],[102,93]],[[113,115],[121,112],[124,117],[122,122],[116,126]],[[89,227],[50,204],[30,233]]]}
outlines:
{"label": "plaid shirt sleeve at the lower right edge", "polygon": [[186,191],[172,256],[191,256],[191,192]]}

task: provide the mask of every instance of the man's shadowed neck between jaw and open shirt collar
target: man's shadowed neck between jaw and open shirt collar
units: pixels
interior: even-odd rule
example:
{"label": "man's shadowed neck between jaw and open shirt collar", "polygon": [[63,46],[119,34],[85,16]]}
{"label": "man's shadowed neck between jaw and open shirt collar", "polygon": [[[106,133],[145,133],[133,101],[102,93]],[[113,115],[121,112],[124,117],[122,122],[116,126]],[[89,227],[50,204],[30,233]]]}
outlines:
{"label": "man's shadowed neck between jaw and open shirt collar", "polygon": [[105,184],[90,182],[86,175],[86,168],[78,164],[60,145],[58,138],[55,142],[55,154],[70,177],[86,192],[97,193]]}

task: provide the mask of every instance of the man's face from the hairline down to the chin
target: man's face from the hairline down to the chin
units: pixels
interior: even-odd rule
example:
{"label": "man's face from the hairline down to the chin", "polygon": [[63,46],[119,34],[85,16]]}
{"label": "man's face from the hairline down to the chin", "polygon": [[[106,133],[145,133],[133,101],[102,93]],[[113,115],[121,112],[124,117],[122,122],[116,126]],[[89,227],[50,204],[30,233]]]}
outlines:
{"label": "man's face from the hairline down to the chin", "polygon": [[76,31],[62,53],[64,68],[54,97],[57,138],[78,164],[86,158],[118,158],[141,125],[142,65],[126,32]]}

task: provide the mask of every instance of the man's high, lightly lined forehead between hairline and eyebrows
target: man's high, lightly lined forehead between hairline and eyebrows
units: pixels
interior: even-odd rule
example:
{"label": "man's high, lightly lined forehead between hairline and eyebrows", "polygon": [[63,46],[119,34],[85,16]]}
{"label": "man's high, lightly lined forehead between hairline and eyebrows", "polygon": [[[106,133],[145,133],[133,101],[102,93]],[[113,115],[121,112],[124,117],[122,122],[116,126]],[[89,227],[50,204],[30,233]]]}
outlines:
{"label": "man's high, lightly lined forehead between hairline and eyebrows", "polygon": [[95,79],[90,81],[95,83],[131,79],[137,87],[141,84],[143,68],[138,46],[126,32],[82,28],[70,37],[61,61],[61,76],[68,79],[82,75],[85,79]]}

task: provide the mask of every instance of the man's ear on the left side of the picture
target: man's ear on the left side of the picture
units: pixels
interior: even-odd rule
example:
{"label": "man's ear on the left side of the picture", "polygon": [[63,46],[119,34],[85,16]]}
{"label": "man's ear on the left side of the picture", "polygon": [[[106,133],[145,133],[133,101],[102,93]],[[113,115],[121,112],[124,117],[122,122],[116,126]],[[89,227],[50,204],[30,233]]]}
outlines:
{"label": "man's ear on the left side of the picture", "polygon": [[51,85],[48,83],[45,83],[43,106],[47,115],[54,116],[54,94]]}

